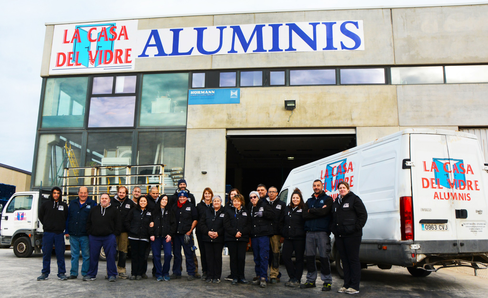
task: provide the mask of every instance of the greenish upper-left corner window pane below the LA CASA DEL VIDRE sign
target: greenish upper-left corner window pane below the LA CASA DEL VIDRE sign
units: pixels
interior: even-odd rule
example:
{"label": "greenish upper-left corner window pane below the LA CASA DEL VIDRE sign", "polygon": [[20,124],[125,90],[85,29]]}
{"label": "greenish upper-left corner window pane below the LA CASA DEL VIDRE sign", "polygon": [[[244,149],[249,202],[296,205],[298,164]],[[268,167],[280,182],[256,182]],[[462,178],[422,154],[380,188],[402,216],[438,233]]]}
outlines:
{"label": "greenish upper-left corner window pane below the LA CASA DEL VIDRE sign", "polygon": [[88,77],[46,80],[42,128],[83,127]]}

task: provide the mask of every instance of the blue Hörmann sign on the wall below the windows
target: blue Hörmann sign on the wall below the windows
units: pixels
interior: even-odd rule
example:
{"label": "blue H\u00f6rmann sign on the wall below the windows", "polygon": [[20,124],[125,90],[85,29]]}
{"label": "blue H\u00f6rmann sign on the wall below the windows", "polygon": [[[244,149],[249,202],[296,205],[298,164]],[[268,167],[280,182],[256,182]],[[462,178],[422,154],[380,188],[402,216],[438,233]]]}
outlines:
{"label": "blue H\u00f6rmann sign on the wall below the windows", "polygon": [[239,88],[188,90],[188,105],[239,104]]}

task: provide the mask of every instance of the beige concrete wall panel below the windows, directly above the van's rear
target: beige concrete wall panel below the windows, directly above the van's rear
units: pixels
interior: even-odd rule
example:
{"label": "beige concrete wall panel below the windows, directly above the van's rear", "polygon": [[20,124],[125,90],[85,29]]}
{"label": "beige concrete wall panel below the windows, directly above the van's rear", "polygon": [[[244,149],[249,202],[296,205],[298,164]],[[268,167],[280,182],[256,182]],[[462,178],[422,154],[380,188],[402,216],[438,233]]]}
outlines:
{"label": "beige concrete wall panel below the windows, directly above the van's rear", "polygon": [[400,126],[486,126],[488,84],[397,85]]}

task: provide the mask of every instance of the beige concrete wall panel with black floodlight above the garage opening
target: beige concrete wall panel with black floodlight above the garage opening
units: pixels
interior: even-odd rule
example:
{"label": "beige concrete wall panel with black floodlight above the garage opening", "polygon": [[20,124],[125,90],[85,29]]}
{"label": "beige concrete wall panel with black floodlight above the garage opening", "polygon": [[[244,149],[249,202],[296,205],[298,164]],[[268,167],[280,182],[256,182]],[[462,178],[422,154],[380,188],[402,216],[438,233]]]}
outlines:
{"label": "beige concrete wall panel with black floodlight above the garage opening", "polygon": [[240,104],[188,106],[187,128],[397,126],[397,111],[391,85],[241,88]]}

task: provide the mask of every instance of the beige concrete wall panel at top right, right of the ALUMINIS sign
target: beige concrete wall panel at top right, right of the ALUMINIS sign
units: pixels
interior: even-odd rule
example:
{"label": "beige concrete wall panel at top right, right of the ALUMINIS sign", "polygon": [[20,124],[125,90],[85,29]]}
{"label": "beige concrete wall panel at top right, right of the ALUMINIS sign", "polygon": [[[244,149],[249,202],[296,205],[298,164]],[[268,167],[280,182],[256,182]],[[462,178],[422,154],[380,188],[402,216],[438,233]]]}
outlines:
{"label": "beige concrete wall panel at top right, right of the ALUMINIS sign", "polygon": [[488,5],[392,10],[396,64],[485,63]]}

